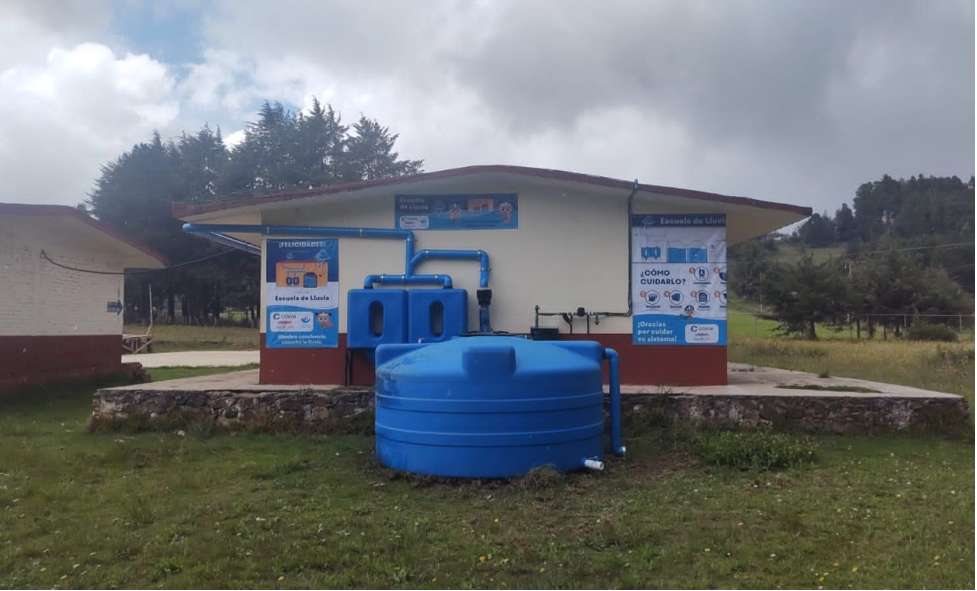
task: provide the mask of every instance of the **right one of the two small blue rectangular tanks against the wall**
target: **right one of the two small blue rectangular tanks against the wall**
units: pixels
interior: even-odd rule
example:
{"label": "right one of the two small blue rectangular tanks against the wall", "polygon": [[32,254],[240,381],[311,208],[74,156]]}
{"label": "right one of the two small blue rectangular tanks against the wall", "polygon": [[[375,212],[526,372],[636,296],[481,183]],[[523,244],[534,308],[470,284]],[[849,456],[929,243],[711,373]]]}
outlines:
{"label": "right one of the two small blue rectangular tanks against the wall", "polygon": [[468,332],[468,292],[412,289],[407,293],[407,342],[439,343]]}

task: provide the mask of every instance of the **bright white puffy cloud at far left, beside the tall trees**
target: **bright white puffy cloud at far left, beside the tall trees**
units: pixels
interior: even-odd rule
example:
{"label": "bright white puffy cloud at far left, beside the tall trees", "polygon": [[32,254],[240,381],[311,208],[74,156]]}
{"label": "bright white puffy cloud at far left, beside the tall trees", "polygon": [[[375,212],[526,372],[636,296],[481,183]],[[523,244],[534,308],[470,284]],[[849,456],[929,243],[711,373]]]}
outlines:
{"label": "bright white puffy cloud at far left, beside the tall trees", "polygon": [[102,164],[179,112],[167,65],[97,43],[0,70],[2,198],[78,203]]}

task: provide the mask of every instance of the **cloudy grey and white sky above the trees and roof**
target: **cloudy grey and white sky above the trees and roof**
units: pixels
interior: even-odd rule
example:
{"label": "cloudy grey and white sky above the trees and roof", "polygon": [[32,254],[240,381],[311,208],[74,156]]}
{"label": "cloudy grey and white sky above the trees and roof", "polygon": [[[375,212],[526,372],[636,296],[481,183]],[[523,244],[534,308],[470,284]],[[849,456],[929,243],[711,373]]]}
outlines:
{"label": "cloudy grey and white sky above the trees and roof", "polygon": [[973,0],[0,0],[0,201],[153,129],[315,95],[427,170],[521,164],[835,209],[974,174]]}

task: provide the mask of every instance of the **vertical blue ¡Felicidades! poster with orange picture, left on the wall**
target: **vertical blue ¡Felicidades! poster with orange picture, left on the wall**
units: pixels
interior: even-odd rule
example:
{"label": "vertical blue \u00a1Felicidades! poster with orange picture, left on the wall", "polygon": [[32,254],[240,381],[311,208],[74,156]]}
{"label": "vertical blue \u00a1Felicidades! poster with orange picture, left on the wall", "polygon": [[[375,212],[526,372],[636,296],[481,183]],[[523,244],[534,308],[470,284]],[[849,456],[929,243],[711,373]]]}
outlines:
{"label": "vertical blue \u00a1Felicidades! poster with orange picture, left on the wall", "polygon": [[268,240],[265,346],[339,346],[339,241]]}

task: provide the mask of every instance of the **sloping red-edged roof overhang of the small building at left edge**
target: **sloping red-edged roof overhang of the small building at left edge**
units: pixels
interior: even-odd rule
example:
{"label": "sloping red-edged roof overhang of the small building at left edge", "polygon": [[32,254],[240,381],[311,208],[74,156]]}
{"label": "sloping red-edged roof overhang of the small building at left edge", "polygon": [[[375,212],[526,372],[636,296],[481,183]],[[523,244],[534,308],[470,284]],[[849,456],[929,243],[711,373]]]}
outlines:
{"label": "sloping red-edged roof overhang of the small building at left edge", "polygon": [[117,252],[126,269],[159,269],[167,264],[160,253],[67,205],[0,203],[0,216],[24,218],[37,232],[50,232],[61,239],[76,237],[80,243]]}

